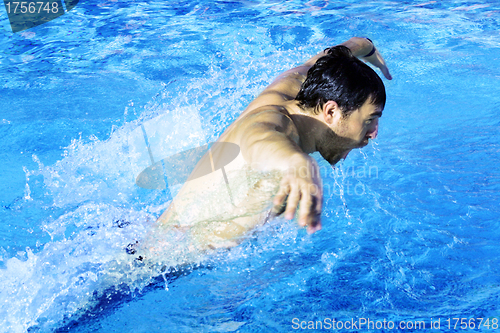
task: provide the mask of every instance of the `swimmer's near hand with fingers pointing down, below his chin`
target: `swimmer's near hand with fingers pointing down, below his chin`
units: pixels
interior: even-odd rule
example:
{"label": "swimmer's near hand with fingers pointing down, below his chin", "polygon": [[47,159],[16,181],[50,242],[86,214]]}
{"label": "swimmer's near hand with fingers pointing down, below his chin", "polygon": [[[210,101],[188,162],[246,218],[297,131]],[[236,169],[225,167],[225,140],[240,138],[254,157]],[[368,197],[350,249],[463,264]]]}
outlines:
{"label": "swimmer's near hand with fingers pointing down, below his chin", "polygon": [[299,225],[307,226],[312,234],[321,230],[321,207],[323,186],[318,164],[314,158],[298,154],[292,158],[289,169],[280,183],[278,194],[274,197],[273,212],[279,212],[286,201],[285,218],[292,220],[299,206]]}

